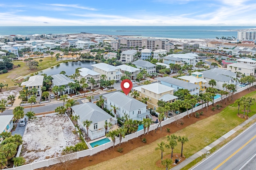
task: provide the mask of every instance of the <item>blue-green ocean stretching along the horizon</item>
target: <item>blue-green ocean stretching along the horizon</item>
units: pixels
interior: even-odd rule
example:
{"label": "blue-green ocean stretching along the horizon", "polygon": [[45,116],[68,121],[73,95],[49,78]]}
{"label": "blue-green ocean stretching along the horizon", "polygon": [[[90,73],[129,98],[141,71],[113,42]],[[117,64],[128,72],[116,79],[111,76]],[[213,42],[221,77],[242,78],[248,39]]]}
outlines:
{"label": "blue-green ocean stretching along the horizon", "polygon": [[104,35],[129,35],[140,37],[214,39],[237,37],[243,26],[0,26],[0,35],[32,35],[49,33],[95,33]]}

